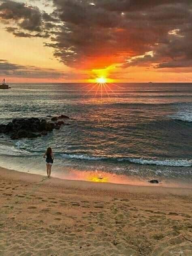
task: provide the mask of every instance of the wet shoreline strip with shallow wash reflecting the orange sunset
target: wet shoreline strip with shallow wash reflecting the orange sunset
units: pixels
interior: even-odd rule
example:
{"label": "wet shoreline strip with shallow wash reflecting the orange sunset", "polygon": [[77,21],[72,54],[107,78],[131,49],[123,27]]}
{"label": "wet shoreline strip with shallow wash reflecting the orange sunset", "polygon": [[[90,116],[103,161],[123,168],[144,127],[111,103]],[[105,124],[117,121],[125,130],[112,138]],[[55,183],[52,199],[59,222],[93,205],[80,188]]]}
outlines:
{"label": "wet shoreline strip with shallow wash reflecting the orange sunset", "polygon": [[[13,142],[7,141],[5,143],[5,141],[2,140],[0,141],[0,145],[3,145],[2,150],[5,151],[8,149],[6,147],[4,148],[4,146],[13,147],[11,150],[13,150],[15,156],[13,157],[6,154],[0,156],[0,166],[9,170],[14,169],[26,173],[45,175],[45,164],[42,161],[41,155],[33,156],[31,154],[29,157],[27,155],[26,158],[25,154],[27,154],[27,151],[24,151],[23,155],[20,156],[20,149],[15,147]],[[105,163],[103,164],[103,162],[100,161],[91,164],[82,161],[83,163],[80,163],[81,168],[78,169],[79,166],[73,166],[74,163],[70,161],[70,159],[63,160],[62,158],[58,158],[54,163],[52,177],[134,186],[192,188],[190,166],[158,166],[138,163],[121,165],[121,162],[117,164],[110,163],[111,165],[105,166]],[[159,183],[149,183],[152,179],[158,180]]]}

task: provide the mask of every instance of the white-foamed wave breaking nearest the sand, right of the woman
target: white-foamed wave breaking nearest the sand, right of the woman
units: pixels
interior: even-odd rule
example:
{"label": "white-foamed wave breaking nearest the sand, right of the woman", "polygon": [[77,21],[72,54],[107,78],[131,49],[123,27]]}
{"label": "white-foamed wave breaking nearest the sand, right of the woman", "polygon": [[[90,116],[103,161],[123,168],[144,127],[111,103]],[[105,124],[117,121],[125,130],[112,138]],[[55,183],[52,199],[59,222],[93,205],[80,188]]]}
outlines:
{"label": "white-foamed wave breaking nearest the sand, right of the woman", "polygon": [[84,154],[61,154],[63,158],[68,159],[79,159],[79,160],[103,160],[103,161],[117,161],[117,162],[130,162],[134,164],[149,164],[149,165],[160,165],[160,166],[192,166],[192,160],[187,159],[144,159],[144,158],[131,158],[131,157],[99,157],[89,156]]}

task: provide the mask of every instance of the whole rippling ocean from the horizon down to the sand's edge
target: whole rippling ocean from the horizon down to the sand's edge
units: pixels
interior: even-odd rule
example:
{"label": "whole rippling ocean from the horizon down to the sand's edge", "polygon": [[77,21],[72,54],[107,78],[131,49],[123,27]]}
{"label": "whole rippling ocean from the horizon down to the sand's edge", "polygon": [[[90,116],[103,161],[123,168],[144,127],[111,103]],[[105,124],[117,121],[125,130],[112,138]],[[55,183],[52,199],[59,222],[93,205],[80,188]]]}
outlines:
{"label": "whole rippling ocean from the horizon down to the sand's edge", "polygon": [[[37,139],[0,138],[0,166],[53,177],[146,185],[190,183],[192,83],[13,84],[0,90],[0,123],[68,115],[68,126]],[[138,182],[137,182],[138,181]]]}

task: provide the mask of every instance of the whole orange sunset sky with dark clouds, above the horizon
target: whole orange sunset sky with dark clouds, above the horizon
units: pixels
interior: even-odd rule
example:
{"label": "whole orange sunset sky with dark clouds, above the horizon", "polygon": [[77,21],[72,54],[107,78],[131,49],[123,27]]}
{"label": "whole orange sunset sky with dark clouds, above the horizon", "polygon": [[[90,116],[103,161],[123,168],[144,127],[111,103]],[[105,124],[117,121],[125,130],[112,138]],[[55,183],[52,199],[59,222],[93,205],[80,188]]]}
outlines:
{"label": "whole orange sunset sky with dark clouds, above the horizon", "polygon": [[0,0],[0,80],[192,82],[191,0]]}

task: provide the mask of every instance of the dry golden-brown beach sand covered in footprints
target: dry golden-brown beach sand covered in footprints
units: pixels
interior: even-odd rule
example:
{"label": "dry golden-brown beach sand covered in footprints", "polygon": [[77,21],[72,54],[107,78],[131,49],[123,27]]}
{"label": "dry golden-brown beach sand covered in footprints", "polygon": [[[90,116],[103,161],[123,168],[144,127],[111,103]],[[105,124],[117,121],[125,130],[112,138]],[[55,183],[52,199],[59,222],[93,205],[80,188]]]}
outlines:
{"label": "dry golden-brown beach sand covered in footprints", "polygon": [[0,255],[192,255],[192,190],[0,169]]}

